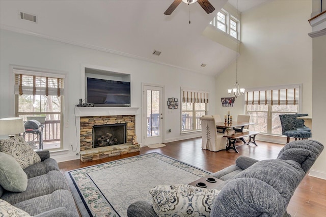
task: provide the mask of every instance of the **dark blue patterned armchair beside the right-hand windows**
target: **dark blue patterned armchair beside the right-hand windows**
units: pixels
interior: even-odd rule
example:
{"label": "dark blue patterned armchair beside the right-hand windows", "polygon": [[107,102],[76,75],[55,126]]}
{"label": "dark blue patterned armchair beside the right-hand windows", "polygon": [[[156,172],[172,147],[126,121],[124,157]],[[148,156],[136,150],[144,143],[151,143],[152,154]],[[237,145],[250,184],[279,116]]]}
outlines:
{"label": "dark blue patterned armchair beside the right-hand windows", "polygon": [[297,139],[311,138],[310,128],[304,125],[303,119],[297,117],[308,116],[308,114],[280,114],[282,135],[287,136],[286,143],[289,143],[290,137]]}

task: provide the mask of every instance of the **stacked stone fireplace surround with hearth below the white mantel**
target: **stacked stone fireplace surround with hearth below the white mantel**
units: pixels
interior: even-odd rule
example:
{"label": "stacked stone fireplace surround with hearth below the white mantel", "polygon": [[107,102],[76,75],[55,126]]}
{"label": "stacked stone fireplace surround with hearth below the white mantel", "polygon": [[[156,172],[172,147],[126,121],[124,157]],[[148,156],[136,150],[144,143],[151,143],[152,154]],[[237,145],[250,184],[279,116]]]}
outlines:
{"label": "stacked stone fireplace surround with hearth below the white mantel", "polygon": [[136,152],[135,115],[81,116],[80,161],[87,162]]}

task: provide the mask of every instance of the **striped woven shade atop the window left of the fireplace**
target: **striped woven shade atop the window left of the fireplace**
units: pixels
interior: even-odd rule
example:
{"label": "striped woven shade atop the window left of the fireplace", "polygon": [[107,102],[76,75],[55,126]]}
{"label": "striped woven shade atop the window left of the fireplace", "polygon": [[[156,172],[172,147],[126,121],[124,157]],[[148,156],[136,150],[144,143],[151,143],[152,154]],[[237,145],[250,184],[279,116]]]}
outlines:
{"label": "striped woven shade atop the window left of the fireplace", "polygon": [[[14,70],[15,94],[63,96],[64,78],[30,75],[28,71]],[[20,74],[25,73],[25,74]]]}

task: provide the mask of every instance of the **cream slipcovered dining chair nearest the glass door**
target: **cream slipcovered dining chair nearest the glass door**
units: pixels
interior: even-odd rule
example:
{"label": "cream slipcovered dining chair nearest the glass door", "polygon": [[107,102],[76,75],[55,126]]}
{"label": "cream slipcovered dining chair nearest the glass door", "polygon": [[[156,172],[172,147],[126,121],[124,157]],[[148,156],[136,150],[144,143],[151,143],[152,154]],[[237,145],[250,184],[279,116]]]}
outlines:
{"label": "cream slipcovered dining chair nearest the glass door", "polygon": [[227,138],[224,135],[233,134],[233,129],[227,129],[225,133],[216,131],[216,121],[211,115],[200,117],[202,125],[202,149],[211,151],[225,150]]}

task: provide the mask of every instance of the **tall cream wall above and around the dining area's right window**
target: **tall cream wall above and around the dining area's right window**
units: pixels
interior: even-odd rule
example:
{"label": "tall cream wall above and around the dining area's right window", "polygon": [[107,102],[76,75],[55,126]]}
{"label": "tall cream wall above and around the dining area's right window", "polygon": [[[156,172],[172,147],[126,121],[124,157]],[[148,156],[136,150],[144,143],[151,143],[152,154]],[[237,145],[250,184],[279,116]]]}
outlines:
{"label": "tall cream wall above and around the dining area's right window", "polygon": [[[290,10],[289,10],[290,9]],[[241,88],[303,84],[301,112],[312,112],[312,40],[310,1],[275,0],[241,14],[238,82]],[[221,98],[235,83],[235,62],[216,77],[216,112],[244,112],[244,97],[234,108],[222,108]]]}

